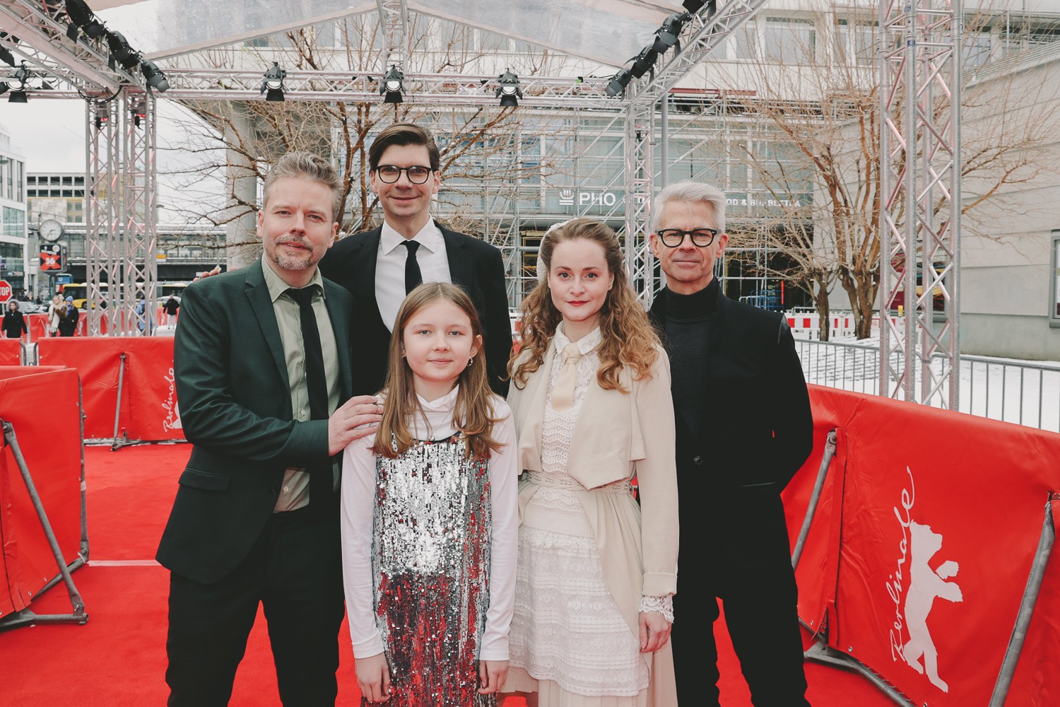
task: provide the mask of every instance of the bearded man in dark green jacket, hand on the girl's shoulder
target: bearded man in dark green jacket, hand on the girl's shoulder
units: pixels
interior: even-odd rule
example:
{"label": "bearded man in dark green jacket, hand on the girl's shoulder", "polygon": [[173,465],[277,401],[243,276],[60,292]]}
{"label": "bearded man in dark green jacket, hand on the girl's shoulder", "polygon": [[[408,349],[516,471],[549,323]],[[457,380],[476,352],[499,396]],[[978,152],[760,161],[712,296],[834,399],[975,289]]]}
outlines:
{"label": "bearded man in dark green jacket, hand on the girl's shoulder", "polygon": [[339,455],[379,420],[350,397],[350,294],[317,270],[339,196],[325,160],[285,155],[258,213],[264,258],[183,293],[174,371],[195,446],[157,554],[170,705],[228,704],[259,604],[283,704],[335,704]]}

